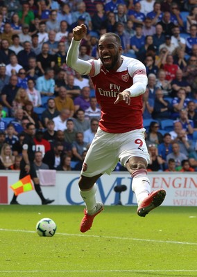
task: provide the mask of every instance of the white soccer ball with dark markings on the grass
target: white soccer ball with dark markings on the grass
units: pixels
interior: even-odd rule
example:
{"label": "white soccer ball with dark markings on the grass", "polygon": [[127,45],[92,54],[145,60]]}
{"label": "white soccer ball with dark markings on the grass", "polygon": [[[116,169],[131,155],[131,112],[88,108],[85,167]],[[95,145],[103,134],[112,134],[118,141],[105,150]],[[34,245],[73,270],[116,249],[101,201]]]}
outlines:
{"label": "white soccer ball with dark markings on the grass", "polygon": [[40,237],[53,237],[53,235],[55,235],[57,226],[55,222],[51,220],[51,218],[42,218],[42,220],[37,222],[35,228],[37,234],[40,235]]}

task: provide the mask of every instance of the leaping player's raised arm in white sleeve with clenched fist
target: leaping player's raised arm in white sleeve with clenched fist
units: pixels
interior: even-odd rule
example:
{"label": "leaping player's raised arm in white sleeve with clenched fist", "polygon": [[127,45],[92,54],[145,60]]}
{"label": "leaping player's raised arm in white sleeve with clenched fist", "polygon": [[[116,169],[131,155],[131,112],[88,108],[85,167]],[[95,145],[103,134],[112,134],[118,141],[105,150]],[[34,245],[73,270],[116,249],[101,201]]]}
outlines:
{"label": "leaping player's raised arm in white sleeve with clenched fist", "polygon": [[87,27],[84,24],[76,26],[73,29],[74,37],[67,53],[67,65],[80,74],[88,74],[91,70],[91,64],[89,62],[80,60],[78,58],[78,47],[80,45],[81,39],[85,37],[86,33]]}

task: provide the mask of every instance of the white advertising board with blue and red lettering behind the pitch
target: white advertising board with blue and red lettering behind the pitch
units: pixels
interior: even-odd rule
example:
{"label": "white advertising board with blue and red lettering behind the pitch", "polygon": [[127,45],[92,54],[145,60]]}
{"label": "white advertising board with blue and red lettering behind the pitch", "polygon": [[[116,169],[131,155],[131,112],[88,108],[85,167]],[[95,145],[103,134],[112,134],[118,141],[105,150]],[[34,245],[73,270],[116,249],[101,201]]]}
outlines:
{"label": "white advertising board with blue and red lettering behind the pitch", "polygon": [[[82,205],[78,193],[78,177],[80,172],[61,172],[55,174],[55,185],[42,186],[44,197],[55,199],[53,205]],[[164,188],[166,199],[164,206],[197,206],[197,174],[196,172],[148,172],[151,179],[151,190]],[[0,204],[9,204],[12,199],[10,186],[18,181],[19,172],[1,170],[0,172]],[[131,190],[132,179],[128,172],[112,172],[103,175],[97,182],[98,200],[106,206],[116,205],[119,194],[114,192],[114,186],[126,185],[127,190],[121,193],[123,205],[136,205],[135,195]],[[18,197],[20,204],[39,205],[40,198],[32,190]]]}

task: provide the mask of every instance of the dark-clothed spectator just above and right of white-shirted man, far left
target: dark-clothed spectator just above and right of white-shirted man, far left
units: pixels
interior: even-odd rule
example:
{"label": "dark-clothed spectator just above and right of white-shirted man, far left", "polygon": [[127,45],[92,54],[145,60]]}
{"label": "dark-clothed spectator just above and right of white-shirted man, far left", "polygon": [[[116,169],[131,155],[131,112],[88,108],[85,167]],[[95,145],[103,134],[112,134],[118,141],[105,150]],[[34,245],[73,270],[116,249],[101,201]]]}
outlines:
{"label": "dark-clothed spectator just above and right of white-shirted man, far left", "polygon": [[25,70],[28,69],[28,59],[36,57],[35,53],[31,50],[31,43],[24,42],[24,50],[20,51],[17,56],[19,64],[21,64]]}

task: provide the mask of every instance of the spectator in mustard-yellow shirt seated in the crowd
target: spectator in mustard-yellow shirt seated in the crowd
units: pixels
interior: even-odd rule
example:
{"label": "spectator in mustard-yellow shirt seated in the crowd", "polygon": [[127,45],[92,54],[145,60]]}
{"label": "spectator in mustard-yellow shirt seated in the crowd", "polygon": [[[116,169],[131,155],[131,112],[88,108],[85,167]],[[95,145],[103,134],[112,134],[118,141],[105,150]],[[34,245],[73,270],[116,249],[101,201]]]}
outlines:
{"label": "spectator in mustard-yellow shirt seated in the crowd", "polygon": [[55,97],[55,107],[58,111],[62,111],[62,109],[69,109],[70,117],[74,115],[74,101],[67,96],[67,89],[65,87],[60,87],[58,96]]}

